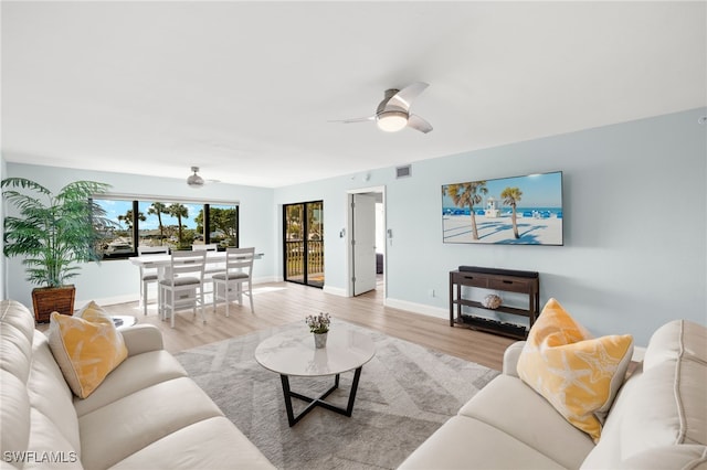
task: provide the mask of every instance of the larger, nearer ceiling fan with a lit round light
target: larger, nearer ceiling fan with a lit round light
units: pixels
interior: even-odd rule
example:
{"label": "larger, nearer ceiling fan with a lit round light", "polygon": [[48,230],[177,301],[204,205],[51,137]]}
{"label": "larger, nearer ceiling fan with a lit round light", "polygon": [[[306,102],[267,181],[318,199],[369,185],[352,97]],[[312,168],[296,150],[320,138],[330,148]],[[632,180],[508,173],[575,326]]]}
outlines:
{"label": "larger, nearer ceiling fan with a lit round light", "polygon": [[344,119],[335,122],[366,122],[374,120],[378,128],[387,132],[397,132],[404,127],[428,133],[432,130],[432,125],[418,115],[410,114],[410,105],[424,89],[430,86],[424,82],[415,82],[402,89],[391,88],[384,93],[383,100],[380,102],[373,116],[355,119]]}

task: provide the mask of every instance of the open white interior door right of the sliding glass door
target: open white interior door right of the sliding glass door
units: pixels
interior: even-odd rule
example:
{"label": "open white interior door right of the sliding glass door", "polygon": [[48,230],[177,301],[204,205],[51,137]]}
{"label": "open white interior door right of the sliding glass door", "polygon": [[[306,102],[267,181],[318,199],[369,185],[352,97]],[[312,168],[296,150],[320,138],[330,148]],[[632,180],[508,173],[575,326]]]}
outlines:
{"label": "open white interior door right of the sliding glass door", "polygon": [[354,295],[376,289],[376,197],[351,194]]}

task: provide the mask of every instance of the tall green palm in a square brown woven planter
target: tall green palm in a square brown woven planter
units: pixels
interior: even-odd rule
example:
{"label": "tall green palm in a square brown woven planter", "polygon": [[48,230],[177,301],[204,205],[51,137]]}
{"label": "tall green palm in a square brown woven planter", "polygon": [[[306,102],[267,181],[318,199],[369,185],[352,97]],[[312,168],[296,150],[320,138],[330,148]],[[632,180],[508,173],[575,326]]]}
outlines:
{"label": "tall green palm in a square brown woven planter", "polygon": [[0,188],[17,209],[4,217],[4,255],[23,256],[27,280],[41,286],[32,290],[35,320],[49,321],[52,311],[72,314],[76,289],[67,280],[78,275],[78,263],[101,259],[96,245],[114,225],[92,199],[109,185],[75,181],[53,194],[32,180],[8,178]]}

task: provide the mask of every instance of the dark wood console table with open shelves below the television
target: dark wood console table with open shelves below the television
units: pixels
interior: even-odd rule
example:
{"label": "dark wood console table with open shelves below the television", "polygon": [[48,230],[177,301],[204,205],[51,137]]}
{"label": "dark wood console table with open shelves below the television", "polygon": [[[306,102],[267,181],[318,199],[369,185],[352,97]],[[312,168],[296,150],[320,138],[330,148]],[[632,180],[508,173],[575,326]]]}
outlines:
{"label": "dark wood console table with open shelves below the television", "polygon": [[[479,301],[463,296],[463,287],[474,287],[496,291],[517,292],[528,296],[528,308],[517,308],[500,305],[496,309],[486,309]],[[492,292],[488,292],[492,293]],[[471,328],[505,337],[524,340],[539,313],[540,277],[535,271],[518,271],[509,269],[482,268],[462,266],[450,273],[450,325]],[[456,307],[456,308],[455,308]],[[462,307],[511,313],[528,318],[528,330],[525,327],[462,313]]]}

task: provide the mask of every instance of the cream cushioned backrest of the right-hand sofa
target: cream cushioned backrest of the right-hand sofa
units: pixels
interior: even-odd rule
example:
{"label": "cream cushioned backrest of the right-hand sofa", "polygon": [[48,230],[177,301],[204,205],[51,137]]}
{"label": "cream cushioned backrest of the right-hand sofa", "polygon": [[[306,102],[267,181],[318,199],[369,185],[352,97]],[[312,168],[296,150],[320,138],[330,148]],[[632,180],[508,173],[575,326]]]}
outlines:
{"label": "cream cushioned backrest of the right-hand sofa", "polygon": [[707,328],[684,320],[655,331],[582,468],[619,468],[651,449],[707,445],[706,335]]}

